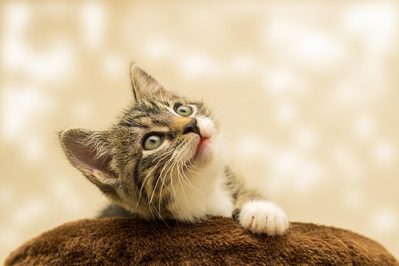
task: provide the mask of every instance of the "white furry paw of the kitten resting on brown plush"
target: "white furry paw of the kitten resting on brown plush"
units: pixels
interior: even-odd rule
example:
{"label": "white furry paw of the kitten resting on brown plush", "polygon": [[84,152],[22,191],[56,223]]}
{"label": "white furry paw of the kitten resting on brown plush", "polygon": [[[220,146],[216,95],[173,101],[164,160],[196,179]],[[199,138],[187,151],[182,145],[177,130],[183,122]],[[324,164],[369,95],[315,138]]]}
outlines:
{"label": "white furry paw of the kitten resting on brown plush", "polygon": [[249,201],[243,204],[238,217],[239,224],[254,234],[265,233],[280,236],[289,226],[282,209],[269,201]]}

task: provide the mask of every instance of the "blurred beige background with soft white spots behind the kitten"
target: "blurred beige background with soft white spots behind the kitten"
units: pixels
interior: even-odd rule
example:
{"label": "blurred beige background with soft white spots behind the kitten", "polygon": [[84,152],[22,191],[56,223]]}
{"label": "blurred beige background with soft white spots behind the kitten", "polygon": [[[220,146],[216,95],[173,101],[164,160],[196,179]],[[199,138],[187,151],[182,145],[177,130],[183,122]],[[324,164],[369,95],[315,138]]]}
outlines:
{"label": "blurred beige background with soft white spots behind the kitten", "polygon": [[0,3],[0,259],[106,204],[55,131],[105,126],[134,60],[223,110],[232,157],[290,220],[399,257],[399,2]]}

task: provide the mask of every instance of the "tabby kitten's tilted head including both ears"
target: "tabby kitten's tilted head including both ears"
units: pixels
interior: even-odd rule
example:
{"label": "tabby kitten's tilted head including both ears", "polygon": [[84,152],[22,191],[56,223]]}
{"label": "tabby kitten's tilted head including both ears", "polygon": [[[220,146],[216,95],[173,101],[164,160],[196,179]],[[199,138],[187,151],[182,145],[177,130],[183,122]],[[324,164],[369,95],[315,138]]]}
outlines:
{"label": "tabby kitten's tilted head including both ears", "polygon": [[61,145],[113,202],[148,218],[157,205],[167,217],[177,187],[188,189],[190,179],[220,167],[222,137],[202,102],[167,91],[136,64],[130,73],[134,101],[119,121],[97,131],[67,129]]}

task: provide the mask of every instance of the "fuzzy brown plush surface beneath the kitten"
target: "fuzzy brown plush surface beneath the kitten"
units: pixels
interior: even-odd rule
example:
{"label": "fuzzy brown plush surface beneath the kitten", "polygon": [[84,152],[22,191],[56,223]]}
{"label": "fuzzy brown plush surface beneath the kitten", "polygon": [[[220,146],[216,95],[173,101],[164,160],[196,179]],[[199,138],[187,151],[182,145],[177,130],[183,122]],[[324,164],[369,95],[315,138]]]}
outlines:
{"label": "fuzzy brown plush surface beneath the kitten", "polygon": [[69,222],[41,234],[5,265],[399,265],[354,232],[293,222],[286,236],[253,235],[231,218],[199,225],[136,218]]}

